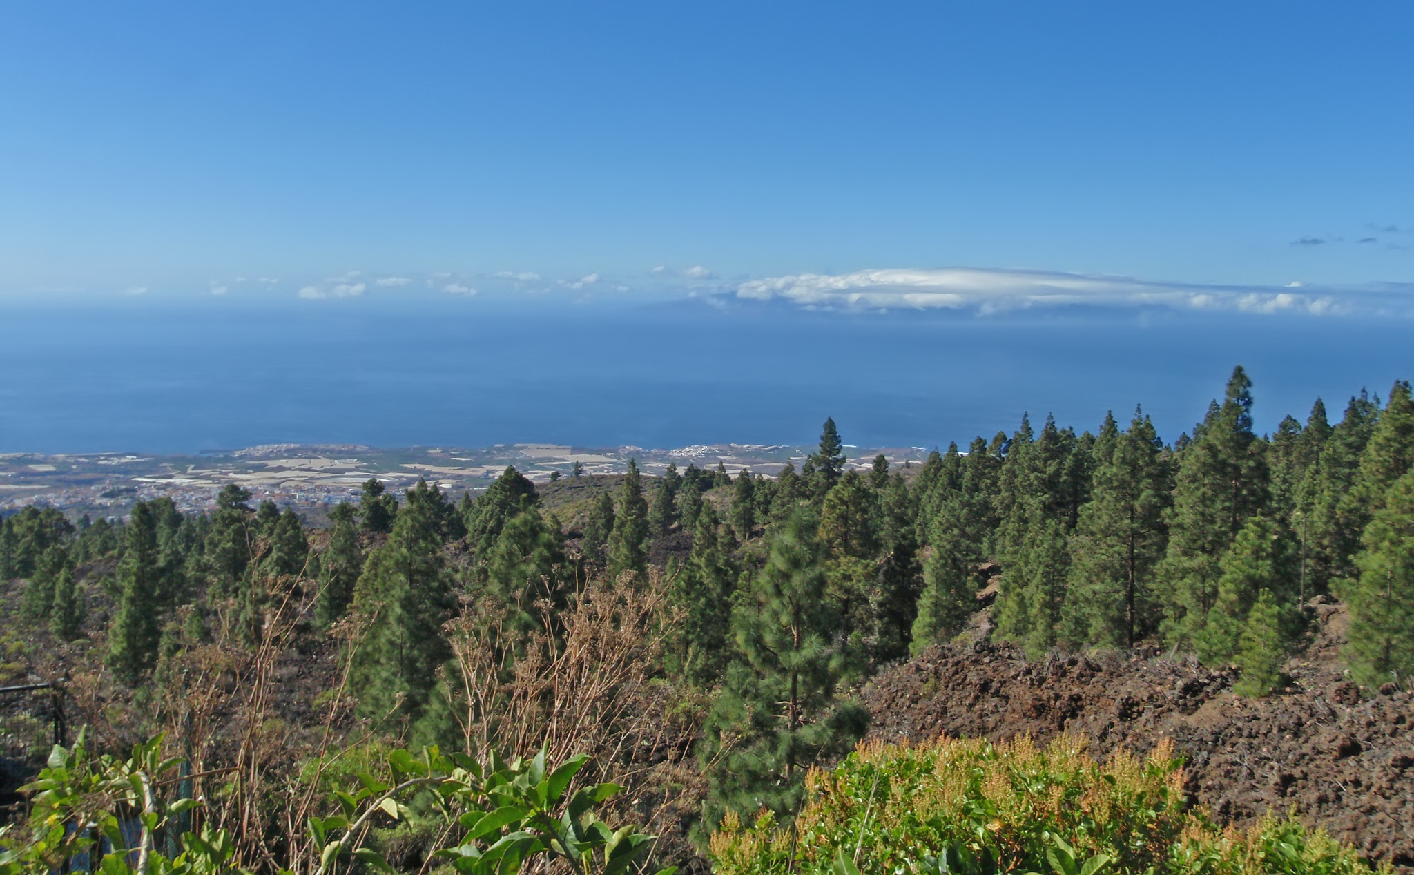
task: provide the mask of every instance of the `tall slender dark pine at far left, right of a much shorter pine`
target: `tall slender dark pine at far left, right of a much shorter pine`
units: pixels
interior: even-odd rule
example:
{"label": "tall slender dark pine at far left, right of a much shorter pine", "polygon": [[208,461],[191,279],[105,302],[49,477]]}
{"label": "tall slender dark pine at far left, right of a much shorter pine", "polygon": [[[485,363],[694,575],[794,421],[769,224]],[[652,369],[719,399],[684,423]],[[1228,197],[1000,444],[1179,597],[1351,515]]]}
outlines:
{"label": "tall slender dark pine at far left, right of a much shorter pine", "polygon": [[147,502],[137,502],[123,532],[123,558],[117,563],[117,613],[109,628],[107,667],[129,687],[151,670],[161,638],[153,594],[161,582],[157,526]]}

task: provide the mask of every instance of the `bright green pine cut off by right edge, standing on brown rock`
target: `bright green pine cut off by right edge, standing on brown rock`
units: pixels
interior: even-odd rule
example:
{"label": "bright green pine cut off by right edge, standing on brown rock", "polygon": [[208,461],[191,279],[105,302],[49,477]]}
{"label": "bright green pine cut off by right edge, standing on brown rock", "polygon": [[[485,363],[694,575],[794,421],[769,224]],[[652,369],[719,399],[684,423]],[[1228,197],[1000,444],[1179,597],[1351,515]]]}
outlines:
{"label": "bright green pine cut off by right edge, standing on brown rock", "polygon": [[1414,677],[1414,472],[1384,493],[1355,560],[1360,574],[1340,585],[1350,606],[1346,656],[1355,679],[1377,688]]}

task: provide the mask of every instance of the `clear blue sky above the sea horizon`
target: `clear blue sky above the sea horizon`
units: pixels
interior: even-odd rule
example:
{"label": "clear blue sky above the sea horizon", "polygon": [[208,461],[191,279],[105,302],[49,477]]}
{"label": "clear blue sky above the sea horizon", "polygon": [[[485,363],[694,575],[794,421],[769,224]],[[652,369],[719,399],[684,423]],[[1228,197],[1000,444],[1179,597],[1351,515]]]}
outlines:
{"label": "clear blue sky above the sea horizon", "polygon": [[[1410,33],[1408,3],[7,3],[0,293],[1401,301]],[[861,273],[939,267],[978,270]]]}

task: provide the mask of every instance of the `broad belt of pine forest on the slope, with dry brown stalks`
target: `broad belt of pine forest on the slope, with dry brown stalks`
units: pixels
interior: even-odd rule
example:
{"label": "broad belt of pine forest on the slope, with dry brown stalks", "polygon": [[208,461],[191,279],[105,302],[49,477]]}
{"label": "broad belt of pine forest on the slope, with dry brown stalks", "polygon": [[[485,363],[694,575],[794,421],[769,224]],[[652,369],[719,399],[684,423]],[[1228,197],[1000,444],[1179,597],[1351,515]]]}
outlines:
{"label": "broad belt of pine forest on the slope, with dry brown stalks", "polygon": [[[1366,693],[1407,683],[1410,384],[1362,390],[1335,424],[1316,400],[1270,437],[1251,407],[1237,368],[1172,444],[1141,410],[1079,434],[1024,417],[921,466],[854,469],[827,420],[773,478],[508,468],[457,498],[372,479],[324,529],[239,486],[211,513],[158,499],[119,523],[27,507],[0,524],[0,683],[68,673],[107,752],[165,731],[198,772],[228,769],[212,824],[271,875],[304,828],[281,793],[370,745],[591,755],[581,779],[624,782],[615,816],[658,818],[673,835],[653,854],[684,861],[687,833],[701,850],[762,810],[809,811],[812,768],[867,731],[858,686],[967,629],[993,565],[990,633],[1032,657],[1157,645],[1239,666],[1261,697],[1329,595]],[[431,827],[385,827],[370,847],[397,868],[430,859]]]}

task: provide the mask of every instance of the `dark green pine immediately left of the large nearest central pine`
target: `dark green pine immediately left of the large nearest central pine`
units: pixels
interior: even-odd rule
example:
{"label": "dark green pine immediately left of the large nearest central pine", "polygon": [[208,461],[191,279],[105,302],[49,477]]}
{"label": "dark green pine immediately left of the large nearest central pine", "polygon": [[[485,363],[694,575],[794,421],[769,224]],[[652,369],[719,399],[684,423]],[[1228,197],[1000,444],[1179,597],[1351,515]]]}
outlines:
{"label": "dark green pine immediately left of the large nearest central pine", "polygon": [[693,551],[673,582],[673,601],[683,609],[676,653],[683,674],[710,687],[731,657],[731,598],[738,570],[718,534],[717,515],[704,507],[693,533]]}

